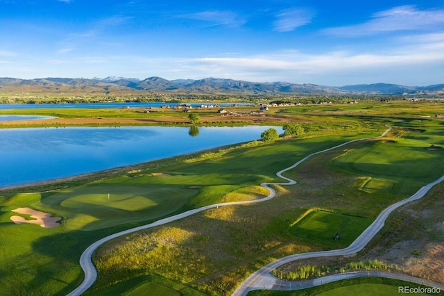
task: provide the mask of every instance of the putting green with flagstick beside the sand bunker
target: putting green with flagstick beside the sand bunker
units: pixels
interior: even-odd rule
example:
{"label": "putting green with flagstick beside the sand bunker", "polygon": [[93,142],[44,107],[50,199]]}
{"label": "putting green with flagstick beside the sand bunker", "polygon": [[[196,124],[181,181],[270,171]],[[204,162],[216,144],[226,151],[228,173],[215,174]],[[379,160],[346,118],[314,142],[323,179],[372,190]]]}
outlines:
{"label": "putting green with flagstick beside the sand bunker", "polygon": [[61,213],[69,229],[92,231],[162,217],[177,211],[195,194],[189,188],[100,183],[60,190],[36,206]]}

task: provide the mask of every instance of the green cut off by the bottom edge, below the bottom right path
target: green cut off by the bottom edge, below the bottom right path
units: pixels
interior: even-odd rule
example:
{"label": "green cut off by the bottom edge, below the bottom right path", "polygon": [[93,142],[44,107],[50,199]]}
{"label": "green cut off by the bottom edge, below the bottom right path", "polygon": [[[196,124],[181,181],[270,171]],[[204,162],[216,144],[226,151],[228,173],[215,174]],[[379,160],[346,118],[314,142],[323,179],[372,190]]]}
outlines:
{"label": "green cut off by the bottom edge, below the bottom right path", "polygon": [[[398,295],[398,286],[385,285],[383,283],[360,283],[317,294],[318,296],[392,296]],[[415,295],[427,295],[415,293]]]}

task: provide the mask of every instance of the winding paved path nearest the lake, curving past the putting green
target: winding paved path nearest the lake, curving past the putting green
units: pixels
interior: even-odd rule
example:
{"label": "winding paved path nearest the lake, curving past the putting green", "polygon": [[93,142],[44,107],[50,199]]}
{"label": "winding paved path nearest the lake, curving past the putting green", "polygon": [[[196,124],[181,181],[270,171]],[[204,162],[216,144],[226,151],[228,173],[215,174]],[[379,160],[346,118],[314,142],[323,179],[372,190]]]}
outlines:
{"label": "winding paved path nearest the lake, curving past the putting green", "polygon": [[[388,131],[390,131],[390,130],[391,129],[387,129],[382,135],[380,135],[379,137],[375,137],[375,138],[384,137],[388,133]],[[178,215],[167,217],[167,218],[164,218],[162,220],[158,220],[156,222],[153,222],[151,224],[146,224],[146,225],[142,225],[140,227],[135,227],[135,228],[128,229],[128,230],[125,230],[125,231],[121,231],[119,233],[114,233],[114,234],[112,234],[110,236],[102,238],[101,240],[97,240],[92,245],[89,245],[89,247],[87,247],[87,249],[85,249],[85,251],[83,252],[82,256],[80,256],[80,266],[82,267],[83,272],[85,272],[85,279],[83,279],[83,282],[80,283],[80,286],[78,286],[71,293],[69,293],[68,296],[77,296],[77,295],[80,295],[80,294],[84,293],[89,287],[92,286],[94,281],[96,281],[97,272],[96,272],[96,268],[94,268],[94,265],[92,264],[91,256],[92,256],[92,253],[94,253],[94,251],[98,247],[103,245],[103,243],[108,242],[108,240],[112,240],[114,238],[118,238],[119,236],[125,236],[128,233],[133,233],[133,232],[140,231],[140,230],[143,230],[143,229],[148,229],[148,228],[151,228],[151,227],[157,227],[157,226],[160,226],[160,225],[163,225],[163,224],[167,224],[167,223],[172,222],[172,221],[180,220],[182,218],[194,215],[196,213],[199,213],[199,212],[202,212],[202,211],[206,211],[206,210],[208,210],[210,208],[217,208],[219,206],[236,206],[236,205],[240,205],[240,204],[255,204],[255,203],[258,203],[258,202],[265,202],[265,201],[267,201],[269,199],[272,199],[276,195],[275,190],[273,190],[273,188],[269,187],[269,185],[273,185],[273,184],[274,185],[293,185],[293,184],[296,184],[296,181],[294,181],[292,179],[289,179],[286,176],[282,176],[282,173],[287,172],[288,170],[291,170],[294,167],[300,165],[300,163],[306,161],[309,157],[314,156],[316,154],[321,154],[321,153],[326,152],[326,151],[330,151],[332,149],[336,149],[336,148],[348,145],[348,144],[350,144],[352,142],[363,141],[363,140],[370,140],[370,139],[375,139],[375,138],[364,138],[364,139],[352,140],[352,141],[349,141],[349,142],[345,142],[345,143],[343,143],[341,145],[337,145],[335,147],[331,147],[329,149],[325,149],[323,151],[318,151],[318,152],[315,152],[313,154],[309,154],[308,156],[305,156],[305,158],[302,158],[300,161],[298,161],[294,165],[291,165],[290,167],[287,167],[284,170],[280,170],[278,173],[276,173],[276,175],[280,176],[280,178],[282,178],[284,180],[287,180],[288,181],[287,183],[262,183],[261,186],[266,188],[268,190],[268,192],[269,192],[268,196],[266,196],[266,197],[264,197],[262,199],[255,199],[255,200],[246,201],[246,202],[225,202],[225,203],[221,203],[221,204],[212,204],[210,206],[204,206],[202,208],[196,208],[196,209],[191,210],[191,211],[187,211],[187,212],[184,212],[184,213],[180,213]],[[325,256],[325,255],[321,255],[321,256]],[[290,261],[292,261],[292,260],[290,260]],[[282,263],[282,264],[284,264],[284,263]],[[282,264],[280,264],[280,265],[282,265]],[[266,269],[266,270],[268,270],[268,269]],[[259,272],[259,274],[262,277],[262,276],[266,276],[266,274],[268,274],[268,272],[269,271],[262,271],[262,272]],[[255,275],[255,274],[252,274],[252,276]],[[250,279],[250,278],[248,278],[248,279]],[[247,279],[247,281],[248,281],[248,279]],[[259,277],[255,276],[253,282],[256,283],[257,281],[259,281],[259,279],[260,279]],[[244,283],[239,288],[243,288],[244,287]],[[248,286],[246,286],[246,287],[250,287],[249,286],[250,282],[248,282],[247,285]],[[239,288],[238,288],[238,290],[239,290]],[[251,286],[251,288],[253,288],[253,286]],[[250,289],[248,289],[248,290],[250,290]],[[248,293],[248,290],[246,290],[245,293]],[[244,295],[244,294],[239,294],[239,295]]]}

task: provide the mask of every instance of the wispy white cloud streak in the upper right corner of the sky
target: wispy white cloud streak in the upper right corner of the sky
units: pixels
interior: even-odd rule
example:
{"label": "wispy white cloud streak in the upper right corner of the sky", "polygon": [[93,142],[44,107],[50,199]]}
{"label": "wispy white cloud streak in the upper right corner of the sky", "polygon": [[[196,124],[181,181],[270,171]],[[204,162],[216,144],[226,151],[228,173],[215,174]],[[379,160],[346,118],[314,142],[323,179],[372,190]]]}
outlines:
{"label": "wispy white cloud streak in the upper right corner of the sky", "polygon": [[368,22],[354,26],[327,28],[332,35],[372,35],[393,31],[436,30],[444,25],[444,10],[418,10],[415,6],[398,6],[375,13]]}

